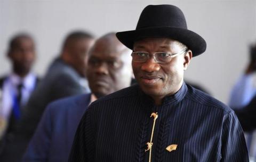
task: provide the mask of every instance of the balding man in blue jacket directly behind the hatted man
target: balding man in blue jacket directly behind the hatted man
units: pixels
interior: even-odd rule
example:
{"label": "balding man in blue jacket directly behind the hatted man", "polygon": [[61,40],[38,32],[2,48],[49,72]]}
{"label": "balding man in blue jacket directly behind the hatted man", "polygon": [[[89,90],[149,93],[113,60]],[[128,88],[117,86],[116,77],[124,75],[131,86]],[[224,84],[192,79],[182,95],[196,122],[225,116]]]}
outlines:
{"label": "balding man in blue jacket directly behind the hatted man", "polygon": [[97,98],[130,86],[131,50],[109,33],[99,38],[89,55],[87,78],[92,93],[71,96],[47,106],[23,161],[67,161],[77,125]]}

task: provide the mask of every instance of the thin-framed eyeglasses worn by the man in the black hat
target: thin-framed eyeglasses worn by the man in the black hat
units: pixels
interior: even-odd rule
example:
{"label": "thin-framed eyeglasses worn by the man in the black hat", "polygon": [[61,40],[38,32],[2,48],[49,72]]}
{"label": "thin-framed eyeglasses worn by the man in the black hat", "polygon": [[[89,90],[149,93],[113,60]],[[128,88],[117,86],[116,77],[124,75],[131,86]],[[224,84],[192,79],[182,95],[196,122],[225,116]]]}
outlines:
{"label": "thin-framed eyeglasses worn by the man in the black hat", "polygon": [[[180,54],[183,54],[183,53],[185,53],[185,52],[187,52],[188,51],[188,48],[184,48],[182,51],[180,51],[180,52],[178,52],[178,53],[173,53],[173,54],[171,54],[171,53],[167,53],[167,52],[155,52],[155,53],[153,53],[153,58],[154,58],[154,60],[157,62],[157,63],[169,63],[169,62],[163,62],[163,61],[159,61],[159,60],[157,60],[156,59],[156,56],[155,56],[155,54],[156,53],[165,53],[165,54],[168,54],[168,56],[171,56],[171,58],[174,58],[175,56],[178,56],[178,55],[180,55]],[[131,56],[133,55],[133,53],[147,53],[147,60],[150,58],[150,56],[149,56],[149,52],[132,52],[132,54],[131,54]],[[134,61],[133,60],[133,56],[132,56],[132,61],[133,62],[140,62],[140,63],[144,63],[144,62],[147,62],[147,60],[145,60],[145,61]]]}

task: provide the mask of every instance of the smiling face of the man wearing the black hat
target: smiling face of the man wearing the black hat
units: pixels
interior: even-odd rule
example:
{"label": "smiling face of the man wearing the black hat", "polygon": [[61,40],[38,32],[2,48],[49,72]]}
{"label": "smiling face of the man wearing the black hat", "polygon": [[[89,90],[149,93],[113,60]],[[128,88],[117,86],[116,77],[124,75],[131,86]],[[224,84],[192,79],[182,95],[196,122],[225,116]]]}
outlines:
{"label": "smiling face of the man wearing the black hat", "polygon": [[146,62],[132,61],[134,76],[143,92],[153,98],[162,99],[179,90],[183,83],[183,71],[190,60],[186,58],[187,54],[175,56],[168,63],[157,63],[153,54],[155,52],[173,54],[182,50],[183,47],[177,41],[168,38],[146,38],[134,43],[134,52],[148,52],[150,55]]}

